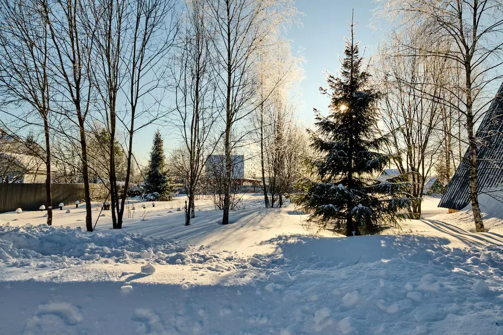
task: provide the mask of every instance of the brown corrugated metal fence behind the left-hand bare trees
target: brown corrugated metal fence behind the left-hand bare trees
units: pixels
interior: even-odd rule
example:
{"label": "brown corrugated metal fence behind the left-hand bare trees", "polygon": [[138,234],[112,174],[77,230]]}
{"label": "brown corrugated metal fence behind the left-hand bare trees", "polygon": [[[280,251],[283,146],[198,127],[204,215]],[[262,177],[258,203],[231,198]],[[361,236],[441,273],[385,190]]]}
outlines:
{"label": "brown corrugated metal fence behind the left-hand bare trees", "polygon": [[[71,205],[84,197],[84,184],[52,184],[52,208],[60,202]],[[103,201],[107,196],[103,184],[91,184],[91,199]],[[0,213],[23,210],[37,210],[45,204],[45,184],[0,184]]]}

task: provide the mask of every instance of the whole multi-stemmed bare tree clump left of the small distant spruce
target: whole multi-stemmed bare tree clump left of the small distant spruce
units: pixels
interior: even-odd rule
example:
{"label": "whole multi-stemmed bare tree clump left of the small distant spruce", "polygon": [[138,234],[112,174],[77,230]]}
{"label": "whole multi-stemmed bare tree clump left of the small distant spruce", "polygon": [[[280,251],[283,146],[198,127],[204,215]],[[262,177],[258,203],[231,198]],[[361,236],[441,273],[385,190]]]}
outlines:
{"label": "whole multi-stemmed bare tree clump left of the small distant spruce", "polygon": [[[91,4],[94,34],[93,86],[99,97],[95,120],[108,132],[108,181],[112,226],[121,229],[134,165],[134,135],[165,116],[161,85],[164,58],[178,30],[174,0],[107,0]],[[120,101],[125,101],[122,104]],[[118,184],[118,132],[124,132],[126,174]]]}

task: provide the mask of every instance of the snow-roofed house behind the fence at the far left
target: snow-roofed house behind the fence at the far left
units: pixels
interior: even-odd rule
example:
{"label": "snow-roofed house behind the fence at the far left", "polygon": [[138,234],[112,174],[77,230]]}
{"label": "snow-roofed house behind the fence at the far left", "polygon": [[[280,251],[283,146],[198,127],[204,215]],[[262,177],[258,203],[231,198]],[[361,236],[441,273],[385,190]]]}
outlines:
{"label": "snow-roofed house behind the fence at the far left", "polygon": [[0,153],[0,183],[44,183],[45,163],[38,157]]}

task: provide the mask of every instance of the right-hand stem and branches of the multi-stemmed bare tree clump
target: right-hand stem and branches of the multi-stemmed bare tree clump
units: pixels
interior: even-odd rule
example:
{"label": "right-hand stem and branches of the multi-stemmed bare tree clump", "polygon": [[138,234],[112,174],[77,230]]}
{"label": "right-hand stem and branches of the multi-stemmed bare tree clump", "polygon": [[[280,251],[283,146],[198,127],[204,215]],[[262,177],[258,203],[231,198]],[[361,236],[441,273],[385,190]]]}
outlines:
{"label": "right-hand stem and branches of the multi-stemmed bare tree clump", "polygon": [[[165,117],[169,110],[162,104],[165,87],[161,83],[166,73],[165,58],[176,43],[178,21],[175,0],[131,0],[131,27],[124,43],[125,82],[121,91],[126,98],[125,113],[117,115],[124,130],[127,157],[124,192],[116,201],[117,222],[121,229],[133,167],[134,135],[139,130]],[[112,142],[111,142],[112,143]]]}

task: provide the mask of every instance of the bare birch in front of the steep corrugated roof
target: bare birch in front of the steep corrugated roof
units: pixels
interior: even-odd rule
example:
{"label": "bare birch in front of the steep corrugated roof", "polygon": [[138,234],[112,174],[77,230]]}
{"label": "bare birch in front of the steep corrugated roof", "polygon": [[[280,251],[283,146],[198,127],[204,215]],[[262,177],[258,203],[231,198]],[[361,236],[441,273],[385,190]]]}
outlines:
{"label": "bare birch in front of the steep corrugated roof", "polygon": [[[453,94],[462,92],[461,105],[450,100],[441,102],[457,109],[466,129],[469,148],[469,194],[477,232],[484,232],[478,202],[477,146],[475,125],[491,103],[487,89],[502,76],[496,69],[503,65],[503,7],[500,0],[380,0],[381,17],[397,22],[396,30],[420,26],[422,36],[442,40],[448,46],[432,50],[423,45],[417,49],[404,45],[411,53],[423,53],[452,60],[463,72],[462,80],[442,87]],[[434,43],[435,45],[435,43]]]}

